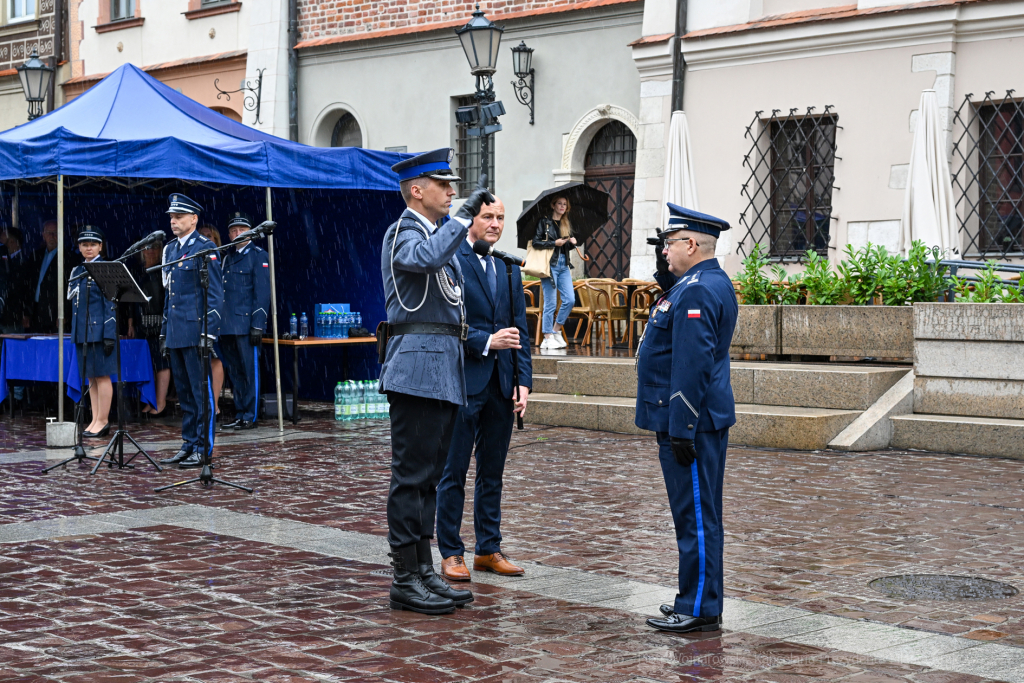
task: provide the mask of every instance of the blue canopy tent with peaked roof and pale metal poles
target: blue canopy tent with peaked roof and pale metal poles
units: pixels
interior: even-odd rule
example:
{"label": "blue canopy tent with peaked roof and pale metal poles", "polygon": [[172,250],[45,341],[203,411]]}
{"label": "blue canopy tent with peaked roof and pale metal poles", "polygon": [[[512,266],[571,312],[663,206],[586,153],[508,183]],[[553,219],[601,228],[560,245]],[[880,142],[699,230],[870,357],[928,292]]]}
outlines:
{"label": "blue canopy tent with peaked roof and pale metal poles", "polygon": [[[79,185],[110,182],[168,190],[173,185],[166,181],[195,183],[205,190],[218,185],[264,187],[266,217],[272,219],[271,188],[292,190],[292,204],[297,189],[384,193],[388,197],[379,203],[382,212],[393,210],[398,180],[390,167],[403,157],[284,140],[231,121],[125,65],[60,109],[0,133],[0,181],[55,183],[58,229],[65,234],[66,176],[78,177]],[[308,224],[305,233],[315,240]],[[134,237],[142,234],[139,230]],[[274,376],[282,405],[273,238],[268,240]],[[57,244],[62,298],[63,240]],[[62,344],[62,325],[58,335]],[[62,353],[58,358],[62,362]],[[63,377],[62,368],[59,375]],[[62,379],[58,390],[62,395]],[[62,400],[58,407],[62,421]],[[283,414],[278,411],[282,429]]]}

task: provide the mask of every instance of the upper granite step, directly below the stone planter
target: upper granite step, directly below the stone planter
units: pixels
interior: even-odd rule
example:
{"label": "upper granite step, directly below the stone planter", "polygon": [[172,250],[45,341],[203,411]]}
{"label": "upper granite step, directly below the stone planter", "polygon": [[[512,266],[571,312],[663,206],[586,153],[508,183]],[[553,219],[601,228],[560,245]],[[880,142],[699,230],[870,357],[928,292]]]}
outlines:
{"label": "upper granite step, directly below the stone planter", "polygon": [[[562,394],[635,398],[633,358],[544,358],[545,370],[557,375],[544,391]],[[555,366],[555,370],[547,370]],[[792,405],[839,411],[864,411],[909,372],[902,367],[838,366],[831,364],[732,362],[732,391],[737,402]],[[535,390],[540,391],[539,387]]]}

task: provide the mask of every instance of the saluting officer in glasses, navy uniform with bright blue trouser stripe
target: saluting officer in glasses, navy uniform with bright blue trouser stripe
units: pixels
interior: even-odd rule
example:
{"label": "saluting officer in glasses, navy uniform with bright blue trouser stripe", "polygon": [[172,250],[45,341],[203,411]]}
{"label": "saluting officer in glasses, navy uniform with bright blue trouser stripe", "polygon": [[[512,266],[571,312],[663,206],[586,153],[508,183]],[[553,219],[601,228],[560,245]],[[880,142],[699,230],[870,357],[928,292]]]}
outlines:
{"label": "saluting officer in glasses, navy uniform with bright blue trouser stripe", "polygon": [[715,258],[729,224],[669,204],[663,232],[678,280],[658,299],[637,349],[636,426],[657,435],[679,547],[679,593],[662,605],[660,631],[718,631],[722,615],[722,477],[736,422],[729,346],[736,295]]}

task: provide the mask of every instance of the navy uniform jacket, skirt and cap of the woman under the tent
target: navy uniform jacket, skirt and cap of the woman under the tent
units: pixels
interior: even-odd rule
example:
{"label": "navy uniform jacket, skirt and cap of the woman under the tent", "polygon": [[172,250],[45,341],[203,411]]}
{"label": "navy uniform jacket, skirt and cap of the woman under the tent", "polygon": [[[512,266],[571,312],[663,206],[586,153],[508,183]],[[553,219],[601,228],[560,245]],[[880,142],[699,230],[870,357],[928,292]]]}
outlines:
{"label": "navy uniform jacket, skirt and cap of the woman under the tent", "polygon": [[[103,243],[103,233],[87,226],[78,236],[78,242]],[[102,261],[101,256],[95,258]],[[85,272],[85,267],[77,265],[71,278]],[[108,377],[118,374],[115,344],[118,331],[115,325],[113,301],[103,296],[99,285],[86,275],[82,280],[68,283],[68,299],[71,300],[71,338],[78,351],[79,370],[83,378]]]}

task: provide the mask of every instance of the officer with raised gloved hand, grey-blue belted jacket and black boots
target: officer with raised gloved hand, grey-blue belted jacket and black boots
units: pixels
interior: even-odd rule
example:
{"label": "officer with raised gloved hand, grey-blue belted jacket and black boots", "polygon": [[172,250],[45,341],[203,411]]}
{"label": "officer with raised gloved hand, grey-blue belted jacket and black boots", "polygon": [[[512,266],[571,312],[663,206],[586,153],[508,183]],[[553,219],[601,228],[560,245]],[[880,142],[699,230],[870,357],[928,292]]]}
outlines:
{"label": "officer with raised gloved hand, grey-blue belted jacket and black boots", "polygon": [[380,391],[390,404],[392,450],[390,605],[426,614],[473,600],[434,573],[430,550],[437,482],[456,414],[466,402],[462,342],[468,327],[457,253],[480,207],[494,202],[481,177],[455,217],[438,226],[456,194],[451,183],[460,179],[452,172],[453,155],[435,150],[391,167],[408,208],[384,233],[381,250],[387,324],[378,329]]}

